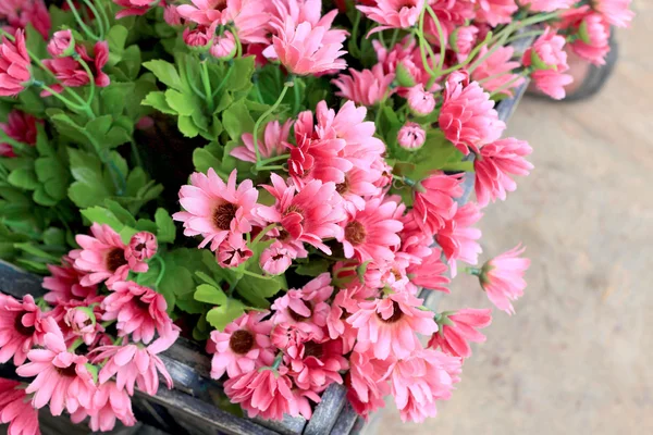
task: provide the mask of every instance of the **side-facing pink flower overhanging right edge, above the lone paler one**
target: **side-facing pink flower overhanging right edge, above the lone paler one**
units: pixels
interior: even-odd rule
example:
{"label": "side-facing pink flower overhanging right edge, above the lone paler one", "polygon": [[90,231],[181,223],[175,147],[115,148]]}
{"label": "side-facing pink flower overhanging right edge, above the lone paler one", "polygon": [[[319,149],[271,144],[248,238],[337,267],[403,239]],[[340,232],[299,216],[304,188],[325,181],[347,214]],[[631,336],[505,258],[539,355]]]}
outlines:
{"label": "side-facing pink flower overhanging right edge, above the lone paler one", "polygon": [[497,198],[504,201],[506,191],[515,191],[517,184],[510,175],[528,175],[533,165],[525,157],[532,152],[528,142],[513,137],[501,139],[481,148],[473,162],[475,190],[480,207]]}

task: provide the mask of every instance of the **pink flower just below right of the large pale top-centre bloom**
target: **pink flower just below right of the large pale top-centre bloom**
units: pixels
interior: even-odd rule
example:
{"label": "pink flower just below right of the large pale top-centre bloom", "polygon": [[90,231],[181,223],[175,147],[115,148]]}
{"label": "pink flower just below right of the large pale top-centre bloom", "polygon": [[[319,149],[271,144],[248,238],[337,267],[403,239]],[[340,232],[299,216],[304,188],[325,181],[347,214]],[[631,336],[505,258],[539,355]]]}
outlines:
{"label": "pink flower just below right of the large pale top-centre bloom", "polygon": [[338,87],[336,96],[352,100],[357,104],[374,105],[384,101],[392,94],[390,85],[394,80],[394,74],[385,74],[380,63],[371,70],[356,71],[349,69],[349,74],[341,74],[331,80]]}

